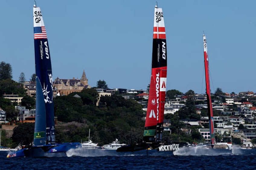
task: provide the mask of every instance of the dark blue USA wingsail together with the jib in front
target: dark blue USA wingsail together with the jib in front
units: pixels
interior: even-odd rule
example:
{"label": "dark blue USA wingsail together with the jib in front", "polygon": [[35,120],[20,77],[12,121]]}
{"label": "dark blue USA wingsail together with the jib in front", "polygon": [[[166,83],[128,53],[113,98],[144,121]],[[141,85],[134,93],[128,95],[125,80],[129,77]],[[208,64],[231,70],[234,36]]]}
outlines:
{"label": "dark blue USA wingsail together with the jib in front", "polygon": [[36,5],[33,8],[33,15],[37,79],[34,145],[37,146],[55,144],[55,125],[50,50],[42,12]]}

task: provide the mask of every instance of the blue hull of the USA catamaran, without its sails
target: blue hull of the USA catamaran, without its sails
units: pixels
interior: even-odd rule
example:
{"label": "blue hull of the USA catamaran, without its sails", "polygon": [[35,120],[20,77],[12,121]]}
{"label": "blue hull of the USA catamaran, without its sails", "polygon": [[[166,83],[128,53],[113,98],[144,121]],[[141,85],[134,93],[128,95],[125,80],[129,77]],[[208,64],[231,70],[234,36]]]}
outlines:
{"label": "blue hull of the USA catamaran, without its sails", "polygon": [[14,153],[7,155],[10,157],[52,157],[52,156],[65,156],[66,152],[70,149],[82,147],[80,143],[62,143],[55,145],[42,145],[24,148]]}

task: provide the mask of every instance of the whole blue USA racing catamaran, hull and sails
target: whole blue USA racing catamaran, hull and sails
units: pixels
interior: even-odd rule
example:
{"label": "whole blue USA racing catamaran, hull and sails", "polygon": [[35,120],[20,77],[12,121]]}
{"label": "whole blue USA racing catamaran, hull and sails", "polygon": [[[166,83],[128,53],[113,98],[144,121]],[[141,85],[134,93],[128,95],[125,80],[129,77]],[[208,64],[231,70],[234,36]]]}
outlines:
{"label": "whole blue USA racing catamaran, hull and sails", "polygon": [[[31,147],[9,153],[7,157],[42,157],[66,153],[81,147],[80,143],[61,143],[55,140],[53,108],[53,76],[46,29],[39,7],[34,5],[34,48],[36,65],[36,114],[34,143]],[[57,156],[57,155],[56,155]]]}

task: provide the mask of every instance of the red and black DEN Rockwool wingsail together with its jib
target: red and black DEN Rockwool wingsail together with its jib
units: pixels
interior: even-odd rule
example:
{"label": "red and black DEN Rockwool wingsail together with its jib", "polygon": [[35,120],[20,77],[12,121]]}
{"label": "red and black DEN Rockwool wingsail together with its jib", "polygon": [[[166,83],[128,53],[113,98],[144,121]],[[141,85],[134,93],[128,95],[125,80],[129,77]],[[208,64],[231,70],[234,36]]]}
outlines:
{"label": "red and black DEN Rockwool wingsail together with its jib", "polygon": [[152,73],[150,80],[149,101],[143,134],[144,142],[162,141],[165,91],[167,75],[167,50],[165,23],[162,8],[155,6]]}

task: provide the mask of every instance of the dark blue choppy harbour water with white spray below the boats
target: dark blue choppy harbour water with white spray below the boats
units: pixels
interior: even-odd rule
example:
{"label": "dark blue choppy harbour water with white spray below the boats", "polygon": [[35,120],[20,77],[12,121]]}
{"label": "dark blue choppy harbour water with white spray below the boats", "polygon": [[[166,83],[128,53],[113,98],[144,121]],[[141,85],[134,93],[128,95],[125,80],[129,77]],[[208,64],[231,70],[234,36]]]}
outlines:
{"label": "dark blue choppy harbour water with white spray below the boats", "polygon": [[0,169],[255,169],[256,150],[237,149],[236,153],[184,154],[146,150],[117,153],[115,150],[78,149],[65,157],[6,158],[0,152]]}

